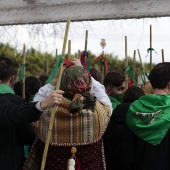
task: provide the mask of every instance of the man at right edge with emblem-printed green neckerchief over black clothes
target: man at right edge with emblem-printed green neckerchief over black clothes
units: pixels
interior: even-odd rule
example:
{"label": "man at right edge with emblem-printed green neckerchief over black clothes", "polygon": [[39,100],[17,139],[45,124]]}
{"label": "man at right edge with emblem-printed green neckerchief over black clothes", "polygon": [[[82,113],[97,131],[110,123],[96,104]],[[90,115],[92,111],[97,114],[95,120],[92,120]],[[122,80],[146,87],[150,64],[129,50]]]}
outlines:
{"label": "man at right edge with emblem-printed green neckerchief over black clothes", "polygon": [[134,140],[131,170],[169,170],[170,63],[157,64],[149,80],[154,94],[133,102],[126,115],[126,124],[132,133],[129,140]]}

